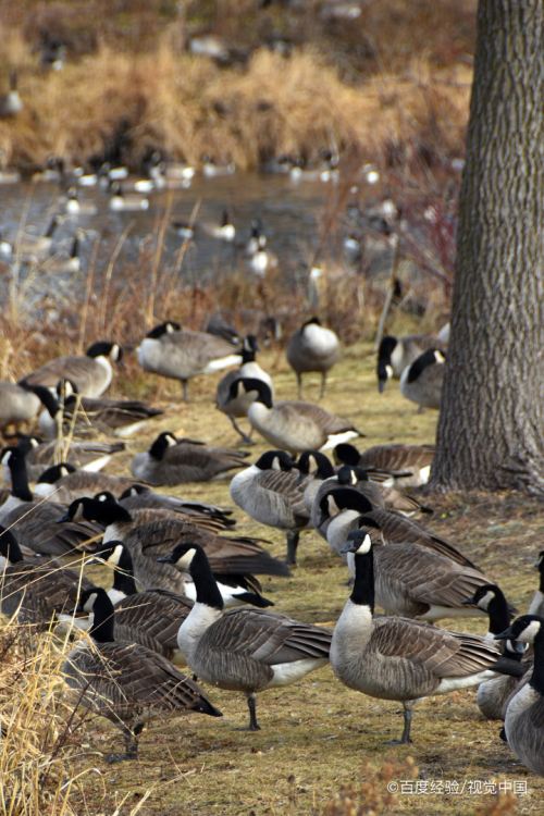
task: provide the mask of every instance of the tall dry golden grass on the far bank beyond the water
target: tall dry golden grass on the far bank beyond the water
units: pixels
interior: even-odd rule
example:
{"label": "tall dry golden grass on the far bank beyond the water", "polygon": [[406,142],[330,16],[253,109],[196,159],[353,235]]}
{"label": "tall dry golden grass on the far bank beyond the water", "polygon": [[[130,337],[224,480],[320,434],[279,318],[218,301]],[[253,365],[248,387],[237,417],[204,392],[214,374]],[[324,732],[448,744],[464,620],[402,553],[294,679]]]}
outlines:
{"label": "tall dry golden grass on the far bank beyond the water", "polygon": [[[282,153],[312,160],[331,147],[393,162],[462,152],[472,3],[452,20],[449,48],[436,20],[440,10],[452,14],[447,2],[419,2],[418,13],[395,3],[381,14],[372,3],[350,26],[327,23],[319,3],[304,14],[274,3],[265,18],[257,5],[194,3],[172,21],[152,3],[147,16],[128,4],[124,17],[97,0],[55,3],[57,17],[32,2],[18,14],[4,3],[3,81],[18,69],[25,103],[13,120],[0,120],[4,160],[30,171],[50,156],[81,163],[111,154],[136,169],[161,149],[197,165],[209,154],[248,169]],[[138,35],[135,24],[146,20],[147,34]],[[37,65],[44,30],[69,42],[63,71]],[[183,44],[199,30],[244,46],[245,59],[222,66],[190,55]],[[267,30],[293,40],[288,57],[270,50]]]}

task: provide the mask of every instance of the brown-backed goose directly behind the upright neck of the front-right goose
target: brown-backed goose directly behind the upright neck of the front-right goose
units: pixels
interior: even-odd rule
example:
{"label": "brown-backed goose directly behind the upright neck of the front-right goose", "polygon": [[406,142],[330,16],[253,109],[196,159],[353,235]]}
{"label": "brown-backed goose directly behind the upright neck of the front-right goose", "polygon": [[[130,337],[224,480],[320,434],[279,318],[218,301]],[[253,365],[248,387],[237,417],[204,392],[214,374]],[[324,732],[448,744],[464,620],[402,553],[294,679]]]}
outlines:
{"label": "brown-backed goose directly behind the upright neck of the front-right goose", "polygon": [[[373,528],[368,517],[361,522],[357,519],[348,537],[362,542],[367,535],[373,543],[375,602],[386,614],[432,622],[484,614],[480,607],[465,603],[469,595],[489,585],[480,570],[418,544],[383,544],[378,527]],[[347,561],[353,573],[353,556],[348,555]]]}

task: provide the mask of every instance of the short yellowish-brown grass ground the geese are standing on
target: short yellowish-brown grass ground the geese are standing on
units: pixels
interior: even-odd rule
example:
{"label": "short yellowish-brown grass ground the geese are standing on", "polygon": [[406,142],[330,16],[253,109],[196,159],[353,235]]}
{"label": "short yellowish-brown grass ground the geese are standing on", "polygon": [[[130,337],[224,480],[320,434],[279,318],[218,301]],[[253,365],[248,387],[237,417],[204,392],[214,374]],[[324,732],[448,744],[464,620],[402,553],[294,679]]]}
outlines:
{"label": "short yellowish-brown grass ground the geese are standing on", "polygon": [[[261,362],[273,373],[280,396],[293,398],[295,378],[284,357],[268,351]],[[147,376],[149,395],[166,415],[147,434],[129,443],[126,454],[115,461],[115,472],[126,472],[134,453],[146,447],[161,430],[170,429],[215,444],[236,444],[226,418],[211,407],[214,378],[200,378],[191,383],[193,401],[188,405],[180,404],[177,383],[163,382],[159,390],[159,382]],[[118,393],[129,393],[124,383],[116,382]],[[318,388],[318,378],[310,375],[305,396],[316,398]],[[346,349],[343,361],[332,373],[324,406],[354,420],[368,434],[369,445],[391,440],[423,443],[434,437],[434,412],[417,413],[395,386],[388,387],[383,396],[378,395],[369,343],[357,343]],[[251,449],[252,456],[265,447],[259,443]],[[172,493],[230,504],[224,482],[186,485]],[[536,503],[515,494],[456,494],[432,500],[428,497],[425,502],[435,510],[430,527],[499,580],[511,602],[520,610],[526,609],[535,585],[532,564],[541,548],[543,532]],[[262,528],[240,511],[236,517],[240,532],[264,535],[271,542],[271,552],[283,556],[282,534]],[[106,571],[98,577],[104,584],[110,580]],[[347,595],[345,570],[324,542],[307,533],[293,577],[281,581],[265,579],[264,592],[279,610],[333,626]],[[443,625],[474,632],[485,630],[484,620],[460,623],[446,620]],[[42,648],[50,648],[47,639],[41,643]],[[18,668],[20,673],[10,682],[22,694],[27,680],[25,668]],[[49,685],[50,680],[45,677],[42,688]],[[459,691],[419,704],[413,721],[415,743],[409,747],[384,744],[400,731],[399,705],[348,691],[329,668],[309,675],[296,685],[260,695],[262,731],[254,734],[239,730],[247,716],[240,696],[214,689],[209,689],[209,693],[224,712],[222,720],[180,717],[153,722],[143,735],[140,759],[134,765],[107,766],[102,752],[116,750],[118,733],[108,724],[87,718],[59,750],[63,762],[60,784],[73,780],[69,801],[62,805],[64,811],[50,799],[49,805],[41,805],[41,809],[38,805],[34,809],[27,805],[26,811],[16,812],[51,816],[71,812],[78,816],[98,813],[347,816],[370,812],[426,816],[453,809],[462,816],[540,813],[542,780],[515,762],[498,739],[498,724],[481,719],[474,691]],[[45,701],[44,706],[49,705],[46,693],[37,698]],[[64,716],[70,717],[70,713]],[[47,767],[46,759],[38,770]],[[477,795],[467,791],[449,795],[387,792],[388,781],[413,778],[437,783],[484,780],[491,791],[498,790],[502,782],[506,793],[497,799],[492,793]],[[28,802],[39,793],[37,787],[30,787],[30,781],[25,788]],[[515,781],[527,782],[527,794],[511,794]],[[49,790],[50,793],[57,790],[54,775]],[[360,804],[360,811],[354,809],[354,801],[357,806]],[[2,807],[2,813],[14,812],[9,809],[9,799],[4,798]]]}

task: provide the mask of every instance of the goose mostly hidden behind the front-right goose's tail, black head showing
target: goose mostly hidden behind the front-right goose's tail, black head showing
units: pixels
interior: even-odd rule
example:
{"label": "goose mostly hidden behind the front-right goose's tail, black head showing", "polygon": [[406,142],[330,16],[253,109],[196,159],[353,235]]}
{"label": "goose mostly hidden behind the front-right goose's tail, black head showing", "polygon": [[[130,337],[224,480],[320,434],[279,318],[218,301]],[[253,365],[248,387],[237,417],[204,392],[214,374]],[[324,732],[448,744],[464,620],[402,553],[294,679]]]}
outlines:
{"label": "goose mostly hidden behind the front-right goose's tail, black head showing", "polygon": [[[510,607],[496,584],[486,583],[479,586],[473,596],[463,602],[468,606],[478,606],[490,618],[486,640],[492,641],[510,625]],[[517,641],[505,641],[503,654],[511,660],[521,660],[524,648]],[[527,669],[527,666],[524,666]],[[496,677],[478,687],[477,703],[486,719],[504,719],[506,702],[519,683],[515,677]]]}

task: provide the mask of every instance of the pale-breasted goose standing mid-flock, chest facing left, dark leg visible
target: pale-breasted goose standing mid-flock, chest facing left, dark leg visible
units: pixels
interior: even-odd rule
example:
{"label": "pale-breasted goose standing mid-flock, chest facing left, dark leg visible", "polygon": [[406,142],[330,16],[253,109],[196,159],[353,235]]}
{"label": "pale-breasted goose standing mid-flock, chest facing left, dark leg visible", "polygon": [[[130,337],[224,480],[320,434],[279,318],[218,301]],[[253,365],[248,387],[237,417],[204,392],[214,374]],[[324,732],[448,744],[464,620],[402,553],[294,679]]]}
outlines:
{"label": "pale-breasted goose standing mid-flock, chest facing left, dark leg visible", "polygon": [[305,481],[290,456],[284,450],[268,450],[233,477],[230,493],[256,521],[287,531],[286,560],[296,564],[300,531],[308,527],[310,514],[304,500]]}

